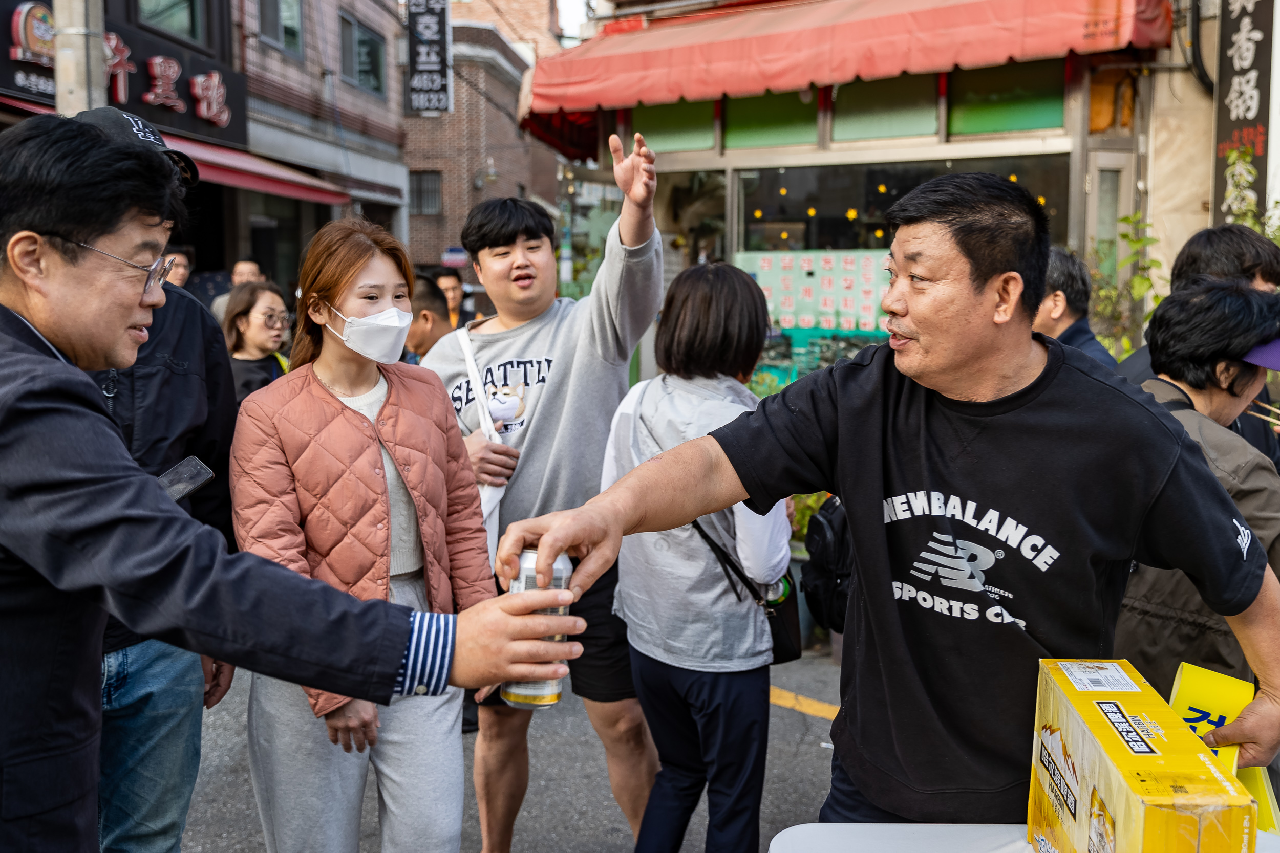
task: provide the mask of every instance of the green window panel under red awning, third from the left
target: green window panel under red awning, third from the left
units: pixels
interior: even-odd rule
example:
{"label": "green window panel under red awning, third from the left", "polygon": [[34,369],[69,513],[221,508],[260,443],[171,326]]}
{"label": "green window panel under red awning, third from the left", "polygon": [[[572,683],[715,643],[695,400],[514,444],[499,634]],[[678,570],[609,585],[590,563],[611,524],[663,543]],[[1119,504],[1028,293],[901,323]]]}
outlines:
{"label": "green window panel under red awning, third from the left", "polygon": [[938,132],[938,82],[933,74],[902,74],[836,90],[831,138],[884,139]]}

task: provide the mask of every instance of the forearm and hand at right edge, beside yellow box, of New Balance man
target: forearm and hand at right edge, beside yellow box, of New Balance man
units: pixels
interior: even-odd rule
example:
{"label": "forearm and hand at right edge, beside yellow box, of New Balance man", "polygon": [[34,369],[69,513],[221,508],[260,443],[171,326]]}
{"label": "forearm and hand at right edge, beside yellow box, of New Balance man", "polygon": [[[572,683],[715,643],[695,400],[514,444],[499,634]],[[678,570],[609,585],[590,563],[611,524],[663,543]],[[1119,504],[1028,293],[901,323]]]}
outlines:
{"label": "forearm and hand at right edge, beside yellow box, of New Balance man", "polygon": [[1243,613],[1226,616],[1226,624],[1258,677],[1258,694],[1235,721],[1206,734],[1204,743],[1215,748],[1239,743],[1239,766],[1261,767],[1280,749],[1280,581],[1270,568],[1258,597]]}

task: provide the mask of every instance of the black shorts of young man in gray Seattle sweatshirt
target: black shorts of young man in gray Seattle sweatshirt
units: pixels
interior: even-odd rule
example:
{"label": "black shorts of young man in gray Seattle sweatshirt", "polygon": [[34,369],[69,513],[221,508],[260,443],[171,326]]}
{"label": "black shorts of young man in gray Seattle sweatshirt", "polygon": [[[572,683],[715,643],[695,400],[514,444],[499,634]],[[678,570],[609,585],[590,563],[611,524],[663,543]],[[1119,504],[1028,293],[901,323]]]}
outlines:
{"label": "black shorts of young man in gray Seattle sweatshirt", "polygon": [[[573,560],[575,567],[577,560]],[[582,655],[568,661],[570,689],[593,702],[621,702],[636,697],[631,682],[631,648],[627,623],[613,615],[613,590],[618,586],[618,564],[600,575],[579,601],[570,605],[572,616],[586,619],[586,630],[573,637],[582,643]],[[502,587],[498,587],[502,592]],[[506,705],[498,691],[480,705]]]}

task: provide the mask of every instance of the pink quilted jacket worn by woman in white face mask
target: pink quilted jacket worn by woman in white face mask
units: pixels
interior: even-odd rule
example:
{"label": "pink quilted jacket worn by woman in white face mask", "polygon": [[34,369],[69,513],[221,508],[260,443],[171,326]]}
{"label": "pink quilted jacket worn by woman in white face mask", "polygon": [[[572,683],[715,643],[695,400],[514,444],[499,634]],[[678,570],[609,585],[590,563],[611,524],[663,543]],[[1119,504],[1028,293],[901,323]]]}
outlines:
{"label": "pink quilted jacket worn by woman in white face mask", "polygon": [[[454,613],[494,595],[480,492],[440,379],[381,364],[387,403],[370,423],[310,364],[246,398],[232,445],[241,550],[357,599],[387,600],[390,503],[379,441],[399,466],[422,531],[426,601]],[[344,696],[305,688],[316,716]]]}

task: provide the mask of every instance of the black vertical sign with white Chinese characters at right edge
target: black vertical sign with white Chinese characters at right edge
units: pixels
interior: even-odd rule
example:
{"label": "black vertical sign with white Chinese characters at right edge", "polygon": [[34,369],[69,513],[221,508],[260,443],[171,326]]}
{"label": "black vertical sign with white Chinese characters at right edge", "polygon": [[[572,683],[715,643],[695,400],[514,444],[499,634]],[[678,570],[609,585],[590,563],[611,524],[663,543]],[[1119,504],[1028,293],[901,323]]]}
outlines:
{"label": "black vertical sign with white Chinese characters at right edge", "polygon": [[[1236,221],[1253,202],[1266,212],[1267,130],[1271,124],[1271,51],[1275,0],[1222,0],[1219,14],[1213,125],[1213,224]],[[1229,168],[1228,152],[1253,151],[1251,176]]]}

